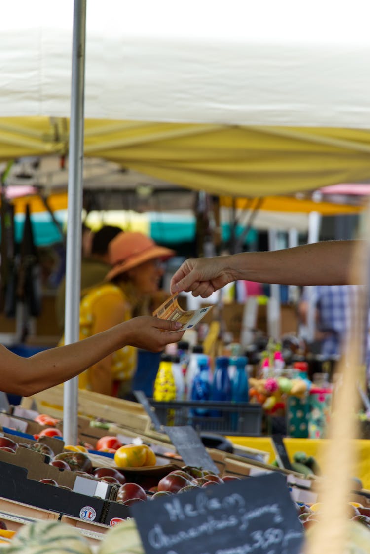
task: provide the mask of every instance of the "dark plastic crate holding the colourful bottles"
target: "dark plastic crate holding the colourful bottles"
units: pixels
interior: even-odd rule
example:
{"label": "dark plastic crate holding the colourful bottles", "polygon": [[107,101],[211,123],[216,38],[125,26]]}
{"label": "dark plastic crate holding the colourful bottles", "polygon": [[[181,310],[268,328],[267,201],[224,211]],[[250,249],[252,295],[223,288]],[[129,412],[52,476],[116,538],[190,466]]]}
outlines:
{"label": "dark plastic crate holding the colourful bottles", "polygon": [[249,402],[157,402],[148,399],[162,425],[192,425],[199,431],[260,437],[262,407]]}

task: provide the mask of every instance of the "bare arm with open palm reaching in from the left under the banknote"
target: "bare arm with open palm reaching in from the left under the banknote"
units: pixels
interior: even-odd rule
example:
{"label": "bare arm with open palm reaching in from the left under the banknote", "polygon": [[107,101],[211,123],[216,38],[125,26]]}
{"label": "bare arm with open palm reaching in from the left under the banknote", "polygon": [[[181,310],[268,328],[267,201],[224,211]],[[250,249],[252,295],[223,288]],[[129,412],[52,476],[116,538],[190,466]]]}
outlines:
{"label": "bare arm with open palm reaching in from the left under the banknote", "polygon": [[160,352],[181,339],[181,324],[156,317],[134,317],[111,329],[70,345],[50,348],[30,358],[17,356],[0,345],[0,389],[30,396],[68,381],[101,358],[126,345]]}

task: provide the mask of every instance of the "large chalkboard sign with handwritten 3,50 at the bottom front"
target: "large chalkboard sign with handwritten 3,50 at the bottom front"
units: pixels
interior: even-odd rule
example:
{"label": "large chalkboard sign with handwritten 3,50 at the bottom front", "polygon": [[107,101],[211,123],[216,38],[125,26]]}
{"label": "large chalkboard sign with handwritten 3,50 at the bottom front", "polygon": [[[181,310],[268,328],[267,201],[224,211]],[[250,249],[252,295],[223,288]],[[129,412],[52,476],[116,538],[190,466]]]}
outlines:
{"label": "large chalkboard sign with handwritten 3,50 at the bottom front", "polygon": [[303,527],[271,473],[131,507],[146,554],[298,554]]}

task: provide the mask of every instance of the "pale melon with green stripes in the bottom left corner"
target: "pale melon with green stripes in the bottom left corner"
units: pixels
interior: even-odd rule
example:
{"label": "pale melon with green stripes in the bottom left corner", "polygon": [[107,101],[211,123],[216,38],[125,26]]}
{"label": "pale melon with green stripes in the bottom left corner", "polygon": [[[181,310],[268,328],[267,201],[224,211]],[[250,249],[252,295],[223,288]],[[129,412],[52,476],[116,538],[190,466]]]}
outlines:
{"label": "pale melon with green stripes in the bottom left corner", "polygon": [[24,525],[6,552],[22,554],[92,554],[80,532],[60,521],[34,521]]}

